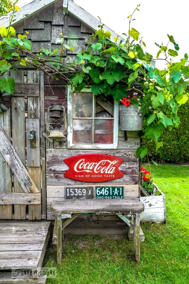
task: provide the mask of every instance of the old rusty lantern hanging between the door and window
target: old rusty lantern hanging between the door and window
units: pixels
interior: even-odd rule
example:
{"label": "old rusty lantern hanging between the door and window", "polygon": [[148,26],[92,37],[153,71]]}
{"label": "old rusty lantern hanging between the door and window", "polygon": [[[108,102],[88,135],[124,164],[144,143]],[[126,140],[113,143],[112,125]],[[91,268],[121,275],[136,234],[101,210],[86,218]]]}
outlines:
{"label": "old rusty lantern hanging between the door and window", "polygon": [[[64,124],[64,130],[62,125]],[[65,138],[64,132],[67,131],[67,120],[65,107],[61,104],[52,104],[47,110],[47,131],[49,138]]]}

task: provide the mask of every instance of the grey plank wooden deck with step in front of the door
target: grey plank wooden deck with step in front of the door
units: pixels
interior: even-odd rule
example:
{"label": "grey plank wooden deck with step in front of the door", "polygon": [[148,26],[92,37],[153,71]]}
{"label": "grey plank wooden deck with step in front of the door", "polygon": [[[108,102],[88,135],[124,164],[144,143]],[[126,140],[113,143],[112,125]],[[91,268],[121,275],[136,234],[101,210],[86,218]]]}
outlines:
{"label": "grey plank wooden deck with step in front of the door", "polygon": [[50,222],[0,222],[0,283],[45,283],[46,277],[11,279],[10,270],[41,267],[49,238]]}

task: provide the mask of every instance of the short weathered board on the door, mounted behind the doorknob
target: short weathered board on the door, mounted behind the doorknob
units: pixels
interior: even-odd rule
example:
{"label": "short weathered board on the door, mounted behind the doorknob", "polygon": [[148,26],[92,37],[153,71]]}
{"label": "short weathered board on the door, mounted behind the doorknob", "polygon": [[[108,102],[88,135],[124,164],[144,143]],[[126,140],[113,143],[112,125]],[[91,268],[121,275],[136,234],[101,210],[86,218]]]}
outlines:
{"label": "short weathered board on the door, mounted behind the doorknob", "polygon": [[[29,134],[30,131],[36,132],[36,148],[30,148]],[[26,119],[26,151],[27,151],[27,166],[41,167],[40,159],[40,120]]]}

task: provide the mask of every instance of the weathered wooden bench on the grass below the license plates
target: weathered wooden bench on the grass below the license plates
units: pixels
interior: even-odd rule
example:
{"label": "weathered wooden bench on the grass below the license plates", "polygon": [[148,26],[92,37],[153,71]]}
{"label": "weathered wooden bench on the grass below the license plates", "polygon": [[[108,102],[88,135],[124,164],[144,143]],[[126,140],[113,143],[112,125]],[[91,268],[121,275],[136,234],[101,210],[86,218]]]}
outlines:
{"label": "weathered wooden bench on the grass below the license plates", "polygon": [[[144,211],[144,204],[138,198],[127,199],[67,199],[61,204],[51,204],[50,210],[57,214],[57,263],[61,262],[62,252],[62,230],[72,222],[80,213],[115,213],[129,227],[133,228],[134,255],[138,262],[140,260],[140,213]],[[73,214],[62,223],[62,214]],[[134,217],[134,222],[123,214]],[[68,215],[69,217],[69,215]]]}

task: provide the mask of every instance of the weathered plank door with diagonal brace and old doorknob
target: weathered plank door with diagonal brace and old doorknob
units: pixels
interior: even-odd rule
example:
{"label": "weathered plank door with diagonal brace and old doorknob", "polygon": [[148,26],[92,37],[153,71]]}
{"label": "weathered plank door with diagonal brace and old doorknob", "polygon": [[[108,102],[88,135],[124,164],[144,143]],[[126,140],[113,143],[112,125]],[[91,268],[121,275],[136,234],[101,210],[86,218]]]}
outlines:
{"label": "weathered plank door with diagonal brace and old doorknob", "polygon": [[19,70],[9,75],[15,91],[11,108],[0,114],[0,219],[40,220],[46,218],[44,74]]}

